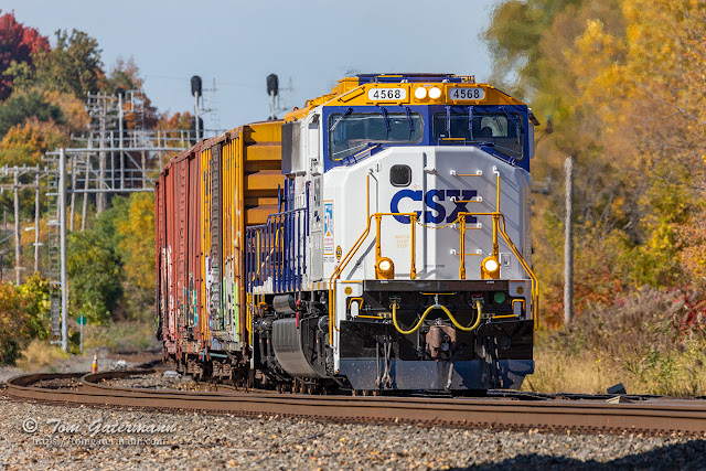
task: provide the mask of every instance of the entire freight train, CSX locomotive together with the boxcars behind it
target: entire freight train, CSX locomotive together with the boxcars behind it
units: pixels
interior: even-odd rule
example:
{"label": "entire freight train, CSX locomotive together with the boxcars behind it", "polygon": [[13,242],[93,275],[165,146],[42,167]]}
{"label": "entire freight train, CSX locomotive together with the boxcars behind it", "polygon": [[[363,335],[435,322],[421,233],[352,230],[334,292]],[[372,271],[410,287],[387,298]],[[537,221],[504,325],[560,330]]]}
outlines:
{"label": "entire freight train, CSX locomotive together with the boxcars behind it", "polygon": [[472,76],[370,74],[179,154],[154,200],[165,357],[308,392],[520,387],[535,126]]}

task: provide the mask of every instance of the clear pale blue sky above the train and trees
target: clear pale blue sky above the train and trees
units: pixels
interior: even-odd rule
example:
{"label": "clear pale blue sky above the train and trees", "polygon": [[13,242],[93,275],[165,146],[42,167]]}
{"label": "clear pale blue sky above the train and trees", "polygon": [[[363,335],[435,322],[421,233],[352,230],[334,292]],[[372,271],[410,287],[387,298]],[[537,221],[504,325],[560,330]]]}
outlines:
{"label": "clear pale blue sky above the train and trees", "polygon": [[[491,72],[480,34],[498,0],[9,0],[26,26],[49,35],[77,29],[98,41],[106,71],[132,58],[161,113],[193,110],[190,78],[213,88],[205,127],[267,119],[266,77],[280,105],[301,107],[347,72]],[[279,111],[281,117],[285,111]],[[217,119],[215,119],[217,118]]]}

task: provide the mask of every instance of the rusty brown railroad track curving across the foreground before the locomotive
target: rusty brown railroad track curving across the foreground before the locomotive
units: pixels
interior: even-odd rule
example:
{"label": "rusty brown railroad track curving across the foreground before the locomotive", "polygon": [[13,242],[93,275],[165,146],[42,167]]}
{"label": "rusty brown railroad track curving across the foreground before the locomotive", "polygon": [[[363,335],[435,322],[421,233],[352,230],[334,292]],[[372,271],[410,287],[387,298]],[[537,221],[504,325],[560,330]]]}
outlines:
{"label": "rusty brown railroad track curving across the foreground before the locomotive", "polygon": [[[706,400],[649,399],[631,404],[605,400],[517,400],[516,398],[352,397],[263,392],[182,392],[113,387],[111,378],[152,370],[96,374],[30,374],[7,382],[18,398],[96,406],[201,410],[236,415],[279,415],[341,421],[415,422],[454,427],[495,427],[601,432],[706,432]],[[73,389],[40,387],[62,379],[79,381]]]}

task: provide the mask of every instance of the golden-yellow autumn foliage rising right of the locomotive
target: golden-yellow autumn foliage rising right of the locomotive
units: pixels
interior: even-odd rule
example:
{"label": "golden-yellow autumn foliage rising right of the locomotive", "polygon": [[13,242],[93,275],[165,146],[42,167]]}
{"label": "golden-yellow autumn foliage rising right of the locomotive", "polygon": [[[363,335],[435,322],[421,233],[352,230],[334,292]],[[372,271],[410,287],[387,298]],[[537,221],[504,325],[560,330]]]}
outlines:
{"label": "golden-yellow autumn foliage rising right of the locomotive", "polygon": [[579,310],[643,283],[682,283],[702,266],[694,222],[706,181],[705,9],[693,0],[512,0],[494,12],[485,32],[494,76],[553,131],[539,129],[533,173],[556,182],[535,195],[534,224],[544,306],[555,314],[567,156],[577,159]]}

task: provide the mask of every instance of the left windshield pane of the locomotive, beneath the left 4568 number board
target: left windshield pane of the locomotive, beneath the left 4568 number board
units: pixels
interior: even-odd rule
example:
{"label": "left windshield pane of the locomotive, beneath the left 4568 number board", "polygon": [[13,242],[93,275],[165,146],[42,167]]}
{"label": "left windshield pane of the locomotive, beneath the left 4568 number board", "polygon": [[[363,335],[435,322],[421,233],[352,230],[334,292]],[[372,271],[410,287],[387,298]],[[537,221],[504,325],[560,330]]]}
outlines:
{"label": "left windshield pane of the locomotive, beneath the left 4568 number board", "polygon": [[335,113],[329,118],[329,157],[341,160],[368,143],[417,143],[424,136],[418,113]]}

